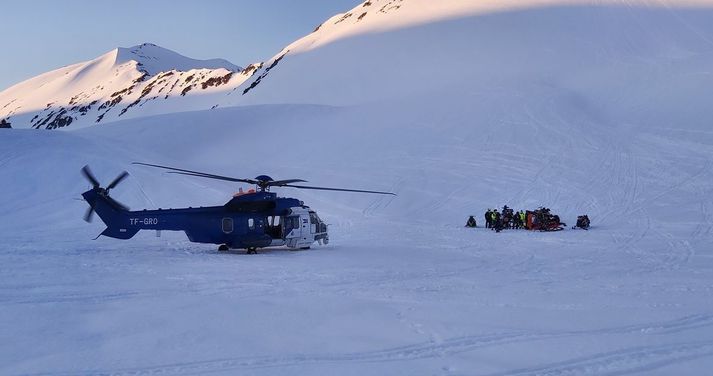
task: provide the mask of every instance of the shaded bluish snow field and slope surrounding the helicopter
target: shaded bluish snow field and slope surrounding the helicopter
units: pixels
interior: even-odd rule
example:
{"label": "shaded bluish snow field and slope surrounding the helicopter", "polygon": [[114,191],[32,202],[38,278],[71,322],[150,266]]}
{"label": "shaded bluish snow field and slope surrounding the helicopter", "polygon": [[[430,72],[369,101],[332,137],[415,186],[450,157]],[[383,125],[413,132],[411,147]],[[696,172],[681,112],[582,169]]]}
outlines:
{"label": "shaded bluish snow field and slope surrounding the helicopter", "polygon": [[[240,107],[0,130],[0,373],[708,373],[713,8],[633,4],[434,18],[288,52]],[[90,240],[84,164],[134,209],[237,190],[131,161],[398,196],[280,190],[330,223],[309,251]],[[503,204],[593,227],[463,227]]]}

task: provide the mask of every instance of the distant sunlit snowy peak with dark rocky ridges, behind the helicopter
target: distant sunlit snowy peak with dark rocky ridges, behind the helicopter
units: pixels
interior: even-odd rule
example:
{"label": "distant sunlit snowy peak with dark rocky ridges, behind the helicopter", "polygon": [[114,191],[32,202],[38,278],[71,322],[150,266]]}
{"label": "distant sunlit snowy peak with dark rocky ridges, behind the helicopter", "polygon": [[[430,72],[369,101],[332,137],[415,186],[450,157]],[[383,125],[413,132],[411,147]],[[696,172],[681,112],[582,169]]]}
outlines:
{"label": "distant sunlit snowy peak with dark rocky ridges, behind the helicopter", "polygon": [[116,48],[0,92],[0,118],[14,128],[77,129],[119,119],[207,109],[254,68],[195,60],[154,44]]}

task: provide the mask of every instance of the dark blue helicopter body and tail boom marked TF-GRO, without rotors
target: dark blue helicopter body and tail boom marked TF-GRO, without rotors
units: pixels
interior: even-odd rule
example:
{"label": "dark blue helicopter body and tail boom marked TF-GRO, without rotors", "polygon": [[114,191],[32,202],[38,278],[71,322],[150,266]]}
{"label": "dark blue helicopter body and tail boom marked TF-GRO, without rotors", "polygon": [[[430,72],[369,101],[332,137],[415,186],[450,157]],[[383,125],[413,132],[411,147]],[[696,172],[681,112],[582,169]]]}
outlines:
{"label": "dark blue helicopter body and tail boom marked TF-GRO, without rotors", "polygon": [[183,231],[192,242],[248,250],[329,241],[317,213],[300,200],[268,191],[236,195],[223,206],[138,211],[124,210],[101,190],[82,196],[107,225],[102,235],[117,239],[130,239],[140,230]]}

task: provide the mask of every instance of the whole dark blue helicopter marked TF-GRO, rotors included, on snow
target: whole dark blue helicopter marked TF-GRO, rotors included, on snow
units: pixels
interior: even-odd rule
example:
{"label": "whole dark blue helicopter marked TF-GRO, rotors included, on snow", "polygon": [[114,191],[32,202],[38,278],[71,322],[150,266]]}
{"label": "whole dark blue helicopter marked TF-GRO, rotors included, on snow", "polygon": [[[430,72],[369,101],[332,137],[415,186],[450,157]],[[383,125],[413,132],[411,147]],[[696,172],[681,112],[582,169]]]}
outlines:
{"label": "whole dark blue helicopter marked TF-GRO, rotors included, on snow", "polygon": [[156,230],[157,236],[161,230],[167,230],[183,231],[191,242],[217,244],[219,251],[246,249],[247,253],[251,254],[266,247],[309,249],[314,242],[329,243],[327,224],[303,201],[278,197],[276,193],[270,192],[270,188],[290,187],[395,195],[391,192],[295,185],[307,182],[302,179],[274,180],[267,175],[254,179],[238,179],[150,163],[132,164],[168,170],[171,174],[254,184],[255,189],[243,191],[240,188],[223,206],[131,211],[126,205],[109,196],[109,191],[129,176],[129,173],[123,171],[106,187],[101,187],[87,165],[81,172],[92,184],[92,188],[82,193],[82,197],[89,204],[84,220],[91,222],[95,212],[99,215],[107,226],[99,236],[131,239],[140,230]]}

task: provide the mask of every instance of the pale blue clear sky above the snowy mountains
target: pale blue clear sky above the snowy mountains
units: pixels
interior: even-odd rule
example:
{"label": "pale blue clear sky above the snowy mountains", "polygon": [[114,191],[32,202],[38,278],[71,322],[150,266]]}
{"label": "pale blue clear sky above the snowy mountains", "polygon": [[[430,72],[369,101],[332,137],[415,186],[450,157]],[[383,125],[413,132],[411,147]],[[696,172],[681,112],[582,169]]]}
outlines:
{"label": "pale blue clear sky above the snowy mountains", "polygon": [[263,61],[360,0],[7,0],[0,91],[116,47],[155,43],[195,59]]}

